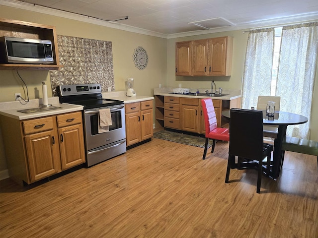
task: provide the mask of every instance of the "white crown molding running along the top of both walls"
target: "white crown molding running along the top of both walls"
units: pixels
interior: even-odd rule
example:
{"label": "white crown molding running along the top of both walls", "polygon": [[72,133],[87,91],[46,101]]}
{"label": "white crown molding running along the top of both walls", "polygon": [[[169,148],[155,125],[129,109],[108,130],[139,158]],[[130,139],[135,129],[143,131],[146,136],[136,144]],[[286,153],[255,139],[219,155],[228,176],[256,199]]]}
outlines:
{"label": "white crown molding running along the top of both walls", "polygon": [[150,31],[150,30],[146,30],[146,29],[142,29],[138,27],[128,26],[126,24],[122,24],[119,22],[108,22],[108,21],[100,20],[93,17],[87,17],[87,16],[76,14],[76,13],[52,9],[49,7],[33,5],[30,3],[17,1],[17,0],[0,0],[0,5],[15,7],[15,8],[23,9],[23,10],[28,10],[28,11],[34,11],[34,12],[38,12],[42,14],[68,18],[72,20],[110,27],[110,28],[114,28],[118,30],[129,31],[129,32],[134,32],[134,33],[148,35],[148,36],[155,36],[155,37],[164,38],[164,39],[204,35],[204,34],[225,32],[225,31],[244,30],[244,29],[255,28],[255,27],[274,27],[274,26],[283,26],[284,24],[290,25],[294,23],[296,24],[296,23],[307,22],[307,21],[318,21],[318,12],[311,12],[307,14],[298,14],[298,15],[288,16],[288,17],[265,19],[265,20],[253,21],[253,22],[244,22],[244,23],[236,24],[235,26],[219,27],[219,28],[214,28],[209,30],[188,31],[188,32],[181,32],[181,33],[167,35],[167,34],[162,34],[159,32]]}

